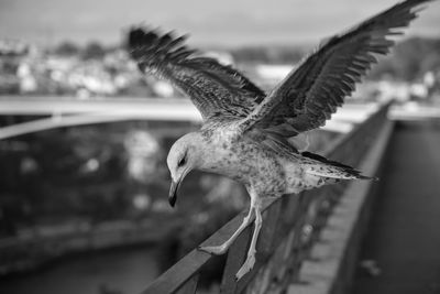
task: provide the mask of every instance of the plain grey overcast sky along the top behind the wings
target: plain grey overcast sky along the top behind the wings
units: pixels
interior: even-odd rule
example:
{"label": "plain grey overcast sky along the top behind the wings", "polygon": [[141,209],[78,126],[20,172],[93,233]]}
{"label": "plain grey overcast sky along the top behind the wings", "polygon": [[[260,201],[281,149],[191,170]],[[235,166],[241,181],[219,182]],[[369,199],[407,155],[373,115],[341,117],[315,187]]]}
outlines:
{"label": "plain grey overcast sky along the top behind the wings", "polygon": [[[315,44],[395,0],[0,0],[0,37],[38,44],[122,40],[131,24],[190,33],[197,45]],[[440,36],[440,1],[408,33]]]}

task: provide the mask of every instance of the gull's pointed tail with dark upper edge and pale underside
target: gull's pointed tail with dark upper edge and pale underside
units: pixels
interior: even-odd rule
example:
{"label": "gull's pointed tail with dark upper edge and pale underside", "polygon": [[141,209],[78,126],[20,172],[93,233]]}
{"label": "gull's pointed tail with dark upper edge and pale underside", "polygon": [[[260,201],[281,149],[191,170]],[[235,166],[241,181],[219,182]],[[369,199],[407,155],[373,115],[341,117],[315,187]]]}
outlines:
{"label": "gull's pointed tail with dark upper edge and pale underside", "polygon": [[306,173],[328,178],[330,182],[332,179],[377,179],[377,177],[361,174],[352,166],[330,161],[311,152],[302,152],[301,155],[310,160],[305,164]]}

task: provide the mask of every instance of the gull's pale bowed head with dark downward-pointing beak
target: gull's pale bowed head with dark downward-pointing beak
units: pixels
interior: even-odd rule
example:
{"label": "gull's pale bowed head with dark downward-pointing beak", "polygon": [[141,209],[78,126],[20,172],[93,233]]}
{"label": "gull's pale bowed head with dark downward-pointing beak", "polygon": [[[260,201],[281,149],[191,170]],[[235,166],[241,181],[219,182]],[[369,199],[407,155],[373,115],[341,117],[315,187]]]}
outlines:
{"label": "gull's pale bowed head with dark downward-pointing beak", "polygon": [[188,133],[178,139],[172,146],[166,159],[172,185],[169,188],[168,200],[174,207],[177,199],[177,190],[185,176],[198,167],[200,154],[198,152],[200,137],[197,133]]}

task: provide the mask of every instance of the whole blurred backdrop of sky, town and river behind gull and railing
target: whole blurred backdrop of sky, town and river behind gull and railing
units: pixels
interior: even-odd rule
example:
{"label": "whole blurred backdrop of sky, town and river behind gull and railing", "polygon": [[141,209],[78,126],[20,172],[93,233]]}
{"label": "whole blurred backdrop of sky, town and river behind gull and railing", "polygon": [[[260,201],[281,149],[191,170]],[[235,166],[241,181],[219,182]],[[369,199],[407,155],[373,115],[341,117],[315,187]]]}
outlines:
{"label": "whole blurred backdrop of sky, town and river behind gull and railing", "polygon": [[[139,73],[131,25],[188,33],[268,90],[320,40],[393,3],[0,0],[0,293],[138,293],[248,203],[237,183],[195,172],[169,208],[166,154],[201,120]],[[322,151],[389,99],[400,115],[440,111],[440,2],[420,14],[300,148]]]}

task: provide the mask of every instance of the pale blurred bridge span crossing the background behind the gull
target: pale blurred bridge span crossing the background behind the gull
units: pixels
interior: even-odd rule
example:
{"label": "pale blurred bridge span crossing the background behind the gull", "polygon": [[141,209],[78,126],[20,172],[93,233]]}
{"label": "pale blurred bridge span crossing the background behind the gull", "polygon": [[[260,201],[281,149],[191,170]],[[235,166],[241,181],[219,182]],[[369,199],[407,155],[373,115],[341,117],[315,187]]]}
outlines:
{"label": "pale blurred bridge span crossing the background behind the gull", "polygon": [[[345,104],[322,128],[348,133],[380,108],[377,104]],[[0,121],[0,140],[54,128],[105,123],[124,120],[201,122],[201,116],[189,99],[95,98],[0,96],[1,116],[43,116],[26,122]]]}

